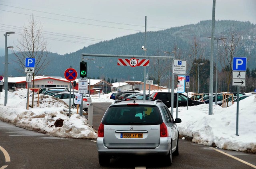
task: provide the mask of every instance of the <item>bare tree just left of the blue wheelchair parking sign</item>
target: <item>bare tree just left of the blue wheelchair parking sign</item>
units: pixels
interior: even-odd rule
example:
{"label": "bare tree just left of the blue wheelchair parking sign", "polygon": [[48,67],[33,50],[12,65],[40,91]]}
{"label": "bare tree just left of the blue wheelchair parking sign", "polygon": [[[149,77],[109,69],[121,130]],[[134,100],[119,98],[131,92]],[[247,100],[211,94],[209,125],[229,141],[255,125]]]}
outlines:
{"label": "bare tree just left of the blue wheelchair parking sign", "polygon": [[242,46],[242,36],[234,28],[230,29],[230,37],[224,42],[223,56],[221,57],[220,65],[226,77],[227,91],[230,91],[232,81],[232,61],[236,56],[236,52]]}

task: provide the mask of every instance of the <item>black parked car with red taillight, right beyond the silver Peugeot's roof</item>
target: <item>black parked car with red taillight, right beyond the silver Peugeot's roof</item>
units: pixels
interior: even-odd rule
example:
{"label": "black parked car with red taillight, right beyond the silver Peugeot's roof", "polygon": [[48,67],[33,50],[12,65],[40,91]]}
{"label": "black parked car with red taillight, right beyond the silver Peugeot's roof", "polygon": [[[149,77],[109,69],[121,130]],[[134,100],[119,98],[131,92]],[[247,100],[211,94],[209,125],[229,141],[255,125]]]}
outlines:
{"label": "black parked car with red taillight, right beyond the silver Peugeot's roof", "polygon": [[[169,108],[171,107],[171,92],[153,92],[150,95],[150,100],[154,101],[154,100],[162,100],[162,102]],[[195,101],[195,100],[191,100],[190,98],[187,98],[187,96],[185,96],[182,93],[179,93],[179,97],[178,97],[178,106],[182,107],[182,106],[187,106],[187,100],[188,100],[188,106],[196,106],[199,104],[204,104],[204,102],[199,102],[199,101]],[[174,100],[173,100],[174,104],[173,107],[176,108],[177,105],[177,93],[174,93]]]}

